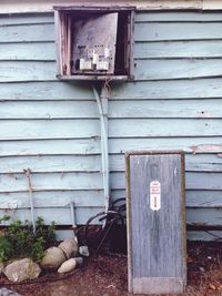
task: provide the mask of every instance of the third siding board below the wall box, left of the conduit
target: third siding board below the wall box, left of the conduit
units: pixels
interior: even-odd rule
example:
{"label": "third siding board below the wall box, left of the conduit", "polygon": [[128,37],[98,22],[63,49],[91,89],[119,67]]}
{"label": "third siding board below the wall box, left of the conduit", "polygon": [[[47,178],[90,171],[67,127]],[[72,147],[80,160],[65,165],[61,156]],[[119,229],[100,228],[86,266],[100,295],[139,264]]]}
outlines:
{"label": "third siding board below the wall box, left of the conduit", "polygon": [[91,136],[100,136],[99,120],[4,120],[0,122],[0,140],[82,139]]}

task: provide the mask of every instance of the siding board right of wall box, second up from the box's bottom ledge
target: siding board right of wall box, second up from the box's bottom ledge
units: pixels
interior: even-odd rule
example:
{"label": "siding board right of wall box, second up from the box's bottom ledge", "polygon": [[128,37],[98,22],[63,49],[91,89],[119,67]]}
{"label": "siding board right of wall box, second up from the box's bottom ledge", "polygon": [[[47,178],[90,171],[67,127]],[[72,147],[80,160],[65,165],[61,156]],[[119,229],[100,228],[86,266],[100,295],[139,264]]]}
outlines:
{"label": "siding board right of wall box, second up from the box's bottom ledge", "polygon": [[222,41],[137,42],[135,59],[222,58]]}

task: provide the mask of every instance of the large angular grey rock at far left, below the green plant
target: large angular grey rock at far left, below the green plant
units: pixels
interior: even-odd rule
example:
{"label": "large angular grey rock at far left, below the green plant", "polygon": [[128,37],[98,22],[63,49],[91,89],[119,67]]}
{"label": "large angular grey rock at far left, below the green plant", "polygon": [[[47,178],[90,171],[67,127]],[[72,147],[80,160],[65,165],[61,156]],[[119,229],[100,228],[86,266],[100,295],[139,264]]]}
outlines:
{"label": "large angular grey rock at far left, below the green plant", "polygon": [[20,283],[37,278],[41,273],[41,268],[30,258],[24,258],[7,265],[3,273],[10,282]]}

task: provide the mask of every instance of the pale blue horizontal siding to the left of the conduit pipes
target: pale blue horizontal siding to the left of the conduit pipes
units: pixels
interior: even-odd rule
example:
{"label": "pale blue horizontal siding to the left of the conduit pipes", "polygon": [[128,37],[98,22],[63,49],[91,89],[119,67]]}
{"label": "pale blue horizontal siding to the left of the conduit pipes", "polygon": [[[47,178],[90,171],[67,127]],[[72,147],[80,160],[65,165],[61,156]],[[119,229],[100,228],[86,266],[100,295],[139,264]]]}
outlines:
{"label": "pale blue horizontal siding to the left of the conduit pipes", "polygon": [[[100,123],[91,85],[56,78],[53,14],[0,18],[0,214],[78,224],[104,208]],[[83,132],[84,131],[84,132]]]}

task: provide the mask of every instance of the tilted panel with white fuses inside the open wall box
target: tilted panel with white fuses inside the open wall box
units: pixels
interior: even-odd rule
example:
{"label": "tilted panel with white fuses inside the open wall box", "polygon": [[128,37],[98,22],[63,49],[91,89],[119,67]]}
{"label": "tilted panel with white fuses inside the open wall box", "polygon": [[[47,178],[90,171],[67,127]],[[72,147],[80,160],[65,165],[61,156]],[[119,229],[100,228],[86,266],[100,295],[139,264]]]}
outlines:
{"label": "tilted panel with white fuses inside the open wall box", "polygon": [[114,73],[118,13],[73,22],[73,73]]}

